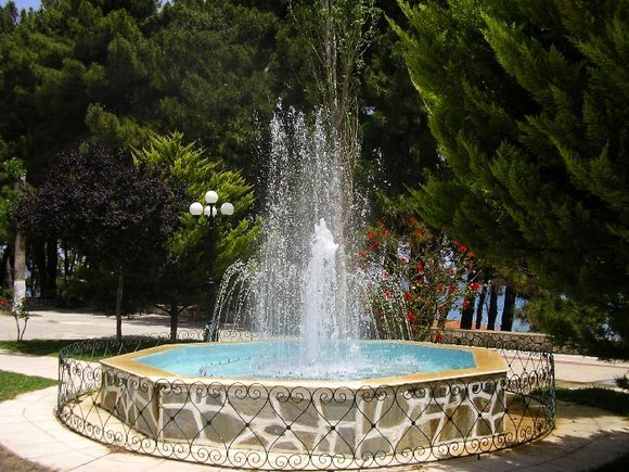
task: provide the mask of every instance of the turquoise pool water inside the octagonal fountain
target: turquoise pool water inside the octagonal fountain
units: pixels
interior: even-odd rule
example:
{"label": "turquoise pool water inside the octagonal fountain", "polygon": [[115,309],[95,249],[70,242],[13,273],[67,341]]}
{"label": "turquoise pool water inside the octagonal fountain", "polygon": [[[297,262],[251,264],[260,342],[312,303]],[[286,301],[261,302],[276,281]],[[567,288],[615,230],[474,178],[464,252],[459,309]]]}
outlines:
{"label": "turquoise pool water inside the octagonal fountain", "polygon": [[297,341],[174,346],[136,360],[177,375],[260,380],[362,380],[476,367],[467,350],[388,341],[330,342],[310,363]]}

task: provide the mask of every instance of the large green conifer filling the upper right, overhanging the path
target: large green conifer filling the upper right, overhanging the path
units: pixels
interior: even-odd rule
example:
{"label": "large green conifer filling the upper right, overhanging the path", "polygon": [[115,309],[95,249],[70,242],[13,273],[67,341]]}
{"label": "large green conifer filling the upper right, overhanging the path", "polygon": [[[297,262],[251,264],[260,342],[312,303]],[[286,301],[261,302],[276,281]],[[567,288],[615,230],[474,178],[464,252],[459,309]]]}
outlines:
{"label": "large green conifer filling the upper right, overhanging the path", "polygon": [[401,5],[405,60],[453,173],[415,193],[422,215],[629,339],[629,2]]}

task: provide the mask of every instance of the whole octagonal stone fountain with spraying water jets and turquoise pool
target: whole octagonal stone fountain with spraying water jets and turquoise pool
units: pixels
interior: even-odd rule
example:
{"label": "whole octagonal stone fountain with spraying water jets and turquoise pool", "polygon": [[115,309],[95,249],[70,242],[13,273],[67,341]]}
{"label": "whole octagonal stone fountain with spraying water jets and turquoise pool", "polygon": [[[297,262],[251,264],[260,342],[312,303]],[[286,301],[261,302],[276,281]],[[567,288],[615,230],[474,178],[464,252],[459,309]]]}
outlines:
{"label": "whole octagonal stone fountain with spraying water jets and turquoise pool", "polygon": [[219,340],[229,321],[253,341],[104,359],[98,406],[146,438],[244,468],[414,461],[503,435],[498,353],[364,340],[373,320],[342,244],[350,213],[334,140],[321,114],[278,113],[271,129],[262,250],[228,271],[213,321]]}

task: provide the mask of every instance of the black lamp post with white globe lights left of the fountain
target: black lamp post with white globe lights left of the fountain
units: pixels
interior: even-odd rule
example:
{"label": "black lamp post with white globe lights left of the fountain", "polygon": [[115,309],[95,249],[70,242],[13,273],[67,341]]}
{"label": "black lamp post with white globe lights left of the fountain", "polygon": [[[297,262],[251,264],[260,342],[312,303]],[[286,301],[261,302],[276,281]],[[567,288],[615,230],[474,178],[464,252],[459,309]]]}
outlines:
{"label": "black lamp post with white globe lights left of the fountain", "polygon": [[[203,205],[201,202],[194,202],[190,205],[190,213],[197,217],[201,218],[201,215],[205,215],[207,218],[207,226],[209,227],[209,260],[210,260],[210,266],[209,269],[207,270],[207,291],[208,291],[208,297],[207,297],[207,320],[205,323],[205,330],[204,330],[204,341],[218,341],[218,327],[211,327],[210,329],[210,322],[211,322],[211,316],[214,314],[214,305],[216,303],[215,298],[214,298],[214,277],[211,275],[211,271],[214,269],[214,261],[216,259],[216,221],[215,218],[218,215],[218,213],[220,212],[221,215],[224,216],[231,216],[233,215],[233,205],[229,202],[224,202],[222,205],[220,205],[220,209],[217,208],[217,202],[218,202],[218,193],[216,193],[214,190],[208,190],[207,192],[205,192],[205,202],[207,203],[207,205]],[[210,332],[214,331],[214,332]]]}

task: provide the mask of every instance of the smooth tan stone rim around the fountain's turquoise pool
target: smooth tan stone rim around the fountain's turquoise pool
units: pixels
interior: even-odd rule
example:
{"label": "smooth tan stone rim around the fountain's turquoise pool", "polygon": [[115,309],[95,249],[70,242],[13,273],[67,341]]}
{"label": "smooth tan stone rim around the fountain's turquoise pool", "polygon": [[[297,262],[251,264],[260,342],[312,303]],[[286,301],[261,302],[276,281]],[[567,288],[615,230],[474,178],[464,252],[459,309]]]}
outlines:
{"label": "smooth tan stone rim around the fountain's turquoise pool", "polygon": [[[378,340],[360,340],[361,342],[377,342]],[[252,341],[239,342],[216,342],[214,344],[245,344]],[[389,341],[391,342],[391,341]],[[117,369],[126,373],[140,375],[151,382],[163,385],[172,384],[180,381],[183,384],[223,384],[223,385],[260,385],[265,387],[286,387],[286,388],[377,388],[381,386],[397,386],[405,384],[418,384],[425,382],[439,382],[453,379],[473,379],[478,377],[505,374],[509,370],[506,362],[495,349],[475,346],[459,346],[459,345],[439,345],[426,342],[415,341],[393,341],[394,343],[423,345],[444,349],[457,349],[471,352],[474,357],[476,367],[464,369],[451,369],[437,372],[418,372],[406,375],[368,378],[361,380],[312,380],[312,379],[247,379],[247,378],[230,378],[230,377],[196,377],[196,375],[180,375],[168,370],[154,368],[143,362],[136,360],[138,357],[144,357],[152,354],[177,349],[184,346],[205,345],[207,343],[187,343],[187,344],[166,344],[156,347],[150,347],[134,353],[123,354],[106,359],[101,359],[100,363],[105,368]]]}

